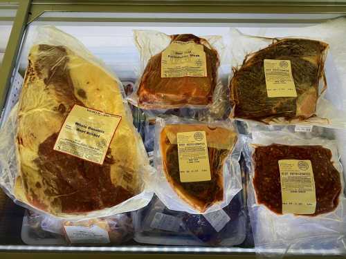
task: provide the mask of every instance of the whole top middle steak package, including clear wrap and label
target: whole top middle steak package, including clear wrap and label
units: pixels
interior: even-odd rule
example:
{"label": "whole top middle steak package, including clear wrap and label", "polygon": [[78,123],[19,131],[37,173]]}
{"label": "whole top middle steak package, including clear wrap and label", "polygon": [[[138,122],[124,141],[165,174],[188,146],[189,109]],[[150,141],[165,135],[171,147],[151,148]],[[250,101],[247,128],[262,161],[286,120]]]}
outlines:
{"label": "whole top middle steak package, including clear wrap and label", "polygon": [[221,36],[134,30],[134,41],[141,67],[129,102],[147,110],[224,109],[226,87],[219,79],[220,52],[224,50]]}

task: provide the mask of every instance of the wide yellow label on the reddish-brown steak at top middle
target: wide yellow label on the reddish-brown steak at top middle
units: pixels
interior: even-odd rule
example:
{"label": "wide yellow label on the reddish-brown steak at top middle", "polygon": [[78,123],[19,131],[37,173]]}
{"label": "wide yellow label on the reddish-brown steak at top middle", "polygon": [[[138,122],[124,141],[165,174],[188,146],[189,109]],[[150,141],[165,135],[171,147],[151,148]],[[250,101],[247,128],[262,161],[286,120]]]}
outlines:
{"label": "wide yellow label on the reddish-brown steak at top middle", "polygon": [[162,52],[161,77],[206,77],[206,52],[194,41],[173,41]]}

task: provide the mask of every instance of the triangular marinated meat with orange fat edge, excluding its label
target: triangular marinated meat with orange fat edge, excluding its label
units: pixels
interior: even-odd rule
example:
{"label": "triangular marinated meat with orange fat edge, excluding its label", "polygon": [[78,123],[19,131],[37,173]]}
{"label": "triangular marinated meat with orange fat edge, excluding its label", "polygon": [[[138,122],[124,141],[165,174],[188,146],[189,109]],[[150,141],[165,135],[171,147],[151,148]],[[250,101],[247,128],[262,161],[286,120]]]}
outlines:
{"label": "triangular marinated meat with orange fat edge, excluding its label", "polygon": [[[206,131],[210,181],[180,181],[176,133],[188,131]],[[236,140],[237,136],[233,131],[220,127],[208,128],[202,124],[171,124],[165,126],[161,131],[161,154],[167,181],[179,197],[194,209],[203,212],[215,202],[224,199],[224,162],[232,151]]]}

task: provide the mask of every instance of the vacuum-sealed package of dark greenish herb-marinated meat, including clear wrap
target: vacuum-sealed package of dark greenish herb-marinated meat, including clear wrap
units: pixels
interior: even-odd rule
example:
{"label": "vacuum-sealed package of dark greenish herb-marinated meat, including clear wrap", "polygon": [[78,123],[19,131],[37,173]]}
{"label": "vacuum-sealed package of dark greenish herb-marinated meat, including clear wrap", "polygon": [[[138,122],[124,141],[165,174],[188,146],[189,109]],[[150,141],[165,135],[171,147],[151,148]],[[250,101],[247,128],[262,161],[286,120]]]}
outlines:
{"label": "vacuum-sealed package of dark greenish herb-marinated meat, including clear wrap", "polygon": [[[345,22],[343,23],[345,26]],[[294,34],[293,34],[294,33]],[[345,128],[346,48],[338,22],[288,30],[280,37],[231,30],[231,117],[265,124]],[[273,37],[273,36],[272,36]]]}

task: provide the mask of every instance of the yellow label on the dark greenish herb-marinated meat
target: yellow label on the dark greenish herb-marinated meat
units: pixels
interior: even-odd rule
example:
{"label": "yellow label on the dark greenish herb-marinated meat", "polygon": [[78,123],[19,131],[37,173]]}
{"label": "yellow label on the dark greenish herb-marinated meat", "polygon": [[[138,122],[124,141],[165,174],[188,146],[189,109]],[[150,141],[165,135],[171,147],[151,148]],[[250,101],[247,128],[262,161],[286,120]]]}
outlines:
{"label": "yellow label on the dark greenish herb-marinated meat", "polygon": [[268,97],[297,97],[290,60],[264,59]]}

